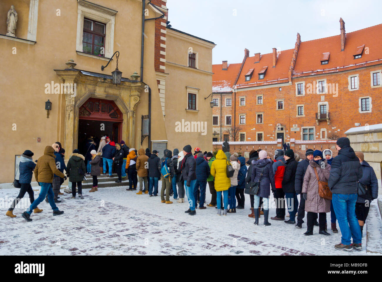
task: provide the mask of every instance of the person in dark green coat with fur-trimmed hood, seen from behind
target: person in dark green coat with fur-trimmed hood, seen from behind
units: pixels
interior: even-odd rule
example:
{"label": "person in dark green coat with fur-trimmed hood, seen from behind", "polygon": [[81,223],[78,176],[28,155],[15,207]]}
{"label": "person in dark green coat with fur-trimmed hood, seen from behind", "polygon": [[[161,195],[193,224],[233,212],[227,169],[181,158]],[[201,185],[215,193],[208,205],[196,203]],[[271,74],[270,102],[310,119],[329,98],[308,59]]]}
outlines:
{"label": "person in dark green coat with fur-trimmed hood, seen from behind", "polygon": [[[67,176],[69,181],[72,183],[72,199],[76,198],[76,184],[78,186],[78,197],[83,199],[82,196],[82,181],[84,180],[84,174],[86,172],[85,167],[85,157],[79,153],[78,149],[73,151],[73,154],[70,156],[68,165],[66,165],[66,172],[69,172]],[[82,170],[82,173],[80,173]]]}

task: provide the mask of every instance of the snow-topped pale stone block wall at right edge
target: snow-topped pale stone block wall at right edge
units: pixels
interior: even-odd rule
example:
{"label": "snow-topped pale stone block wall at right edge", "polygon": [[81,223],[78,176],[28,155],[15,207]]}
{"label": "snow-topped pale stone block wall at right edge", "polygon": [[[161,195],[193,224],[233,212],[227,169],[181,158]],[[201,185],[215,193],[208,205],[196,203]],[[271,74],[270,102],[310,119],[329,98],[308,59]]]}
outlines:
{"label": "snow-topped pale stone block wall at right edge", "polygon": [[[377,175],[379,188],[381,188],[382,161],[382,123],[350,128],[345,134],[350,139],[350,145],[354,151],[364,154],[364,159],[374,169]],[[381,190],[379,190],[381,194]]]}

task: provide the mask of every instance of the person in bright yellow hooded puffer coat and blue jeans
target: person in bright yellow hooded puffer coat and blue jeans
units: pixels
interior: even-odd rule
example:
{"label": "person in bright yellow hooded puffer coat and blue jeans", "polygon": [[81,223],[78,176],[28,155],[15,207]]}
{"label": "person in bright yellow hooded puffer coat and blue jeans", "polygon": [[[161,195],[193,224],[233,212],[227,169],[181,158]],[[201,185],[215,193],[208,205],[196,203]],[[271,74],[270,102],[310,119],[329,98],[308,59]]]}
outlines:
{"label": "person in bright yellow hooded puffer coat and blue jeans", "polygon": [[223,215],[227,216],[228,189],[231,187],[231,180],[227,177],[227,164],[231,163],[229,160],[227,160],[227,156],[222,150],[219,150],[217,152],[215,158],[216,160],[214,160],[211,165],[211,175],[215,178],[215,190],[217,191],[217,214],[218,216],[221,216],[222,214],[222,207],[220,206],[220,197],[222,196],[223,192]]}

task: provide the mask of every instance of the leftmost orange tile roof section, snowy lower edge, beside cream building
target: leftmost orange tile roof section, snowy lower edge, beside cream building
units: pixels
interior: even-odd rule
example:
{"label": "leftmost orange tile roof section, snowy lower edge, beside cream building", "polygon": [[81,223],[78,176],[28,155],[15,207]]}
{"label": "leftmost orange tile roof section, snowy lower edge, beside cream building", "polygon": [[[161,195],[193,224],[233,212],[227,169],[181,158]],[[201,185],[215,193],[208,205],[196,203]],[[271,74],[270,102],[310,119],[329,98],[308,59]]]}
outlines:
{"label": "leftmost orange tile roof section, snowy lower edge, beside cream building", "polygon": [[228,64],[227,70],[222,70],[222,64],[212,65],[212,92],[231,92],[240,66],[241,63]]}

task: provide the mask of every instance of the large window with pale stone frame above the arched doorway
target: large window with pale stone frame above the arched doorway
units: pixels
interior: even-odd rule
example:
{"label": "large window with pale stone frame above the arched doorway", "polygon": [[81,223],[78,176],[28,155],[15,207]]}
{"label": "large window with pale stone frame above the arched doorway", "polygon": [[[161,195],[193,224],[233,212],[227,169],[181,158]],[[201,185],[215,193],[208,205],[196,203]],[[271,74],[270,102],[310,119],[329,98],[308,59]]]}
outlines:
{"label": "large window with pale stone frame above the arched doorway", "polygon": [[[117,11],[78,0],[76,51],[87,56],[111,58]],[[90,29],[89,29],[90,27]]]}

